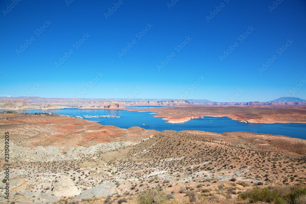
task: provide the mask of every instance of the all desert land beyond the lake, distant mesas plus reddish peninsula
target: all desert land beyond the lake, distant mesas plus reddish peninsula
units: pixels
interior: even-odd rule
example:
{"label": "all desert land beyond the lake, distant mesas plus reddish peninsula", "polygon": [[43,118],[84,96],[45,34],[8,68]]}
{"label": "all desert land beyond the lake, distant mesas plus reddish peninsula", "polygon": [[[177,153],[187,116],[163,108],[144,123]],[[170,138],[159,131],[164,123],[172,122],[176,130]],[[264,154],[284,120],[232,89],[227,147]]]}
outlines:
{"label": "all desert land beyond the lake, distant mesas plus reddish peninsula", "polygon": [[[6,100],[4,100],[6,98]],[[286,98],[286,97],[285,97]],[[2,99],[2,100],[1,100]],[[18,99],[18,100],[15,100]],[[22,99],[22,100],[20,100]],[[0,109],[119,109],[155,112],[154,117],[164,117],[169,123],[183,123],[194,118],[229,117],[244,123],[306,123],[306,102],[211,102],[208,100],[123,100],[123,99],[73,99],[40,97],[0,97]],[[126,108],[125,106],[132,106]],[[134,109],[133,106],[161,106]]]}

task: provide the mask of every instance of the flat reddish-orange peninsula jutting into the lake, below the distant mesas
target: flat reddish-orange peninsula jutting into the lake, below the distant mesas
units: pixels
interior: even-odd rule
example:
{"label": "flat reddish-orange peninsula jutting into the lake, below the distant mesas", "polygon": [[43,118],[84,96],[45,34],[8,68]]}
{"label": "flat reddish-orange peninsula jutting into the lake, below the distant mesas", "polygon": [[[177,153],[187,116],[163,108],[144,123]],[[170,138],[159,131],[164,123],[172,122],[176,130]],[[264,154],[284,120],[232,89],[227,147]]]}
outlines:
{"label": "flat reddish-orange peninsula jutting into the lake, below the distant mesas", "polygon": [[245,123],[306,123],[306,106],[209,106],[157,107],[137,111],[155,112],[169,123],[182,123],[194,118],[229,117]]}

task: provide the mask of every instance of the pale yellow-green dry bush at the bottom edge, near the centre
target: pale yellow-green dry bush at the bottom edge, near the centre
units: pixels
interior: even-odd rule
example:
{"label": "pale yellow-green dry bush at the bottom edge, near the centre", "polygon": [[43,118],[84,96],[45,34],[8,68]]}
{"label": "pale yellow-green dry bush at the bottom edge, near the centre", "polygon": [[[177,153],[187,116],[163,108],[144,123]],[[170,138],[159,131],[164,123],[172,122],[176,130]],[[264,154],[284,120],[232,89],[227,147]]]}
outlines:
{"label": "pale yellow-green dry bush at the bottom edge, near the centre", "polygon": [[164,192],[158,191],[157,189],[144,191],[137,198],[138,204],[163,204],[167,200],[167,196]]}

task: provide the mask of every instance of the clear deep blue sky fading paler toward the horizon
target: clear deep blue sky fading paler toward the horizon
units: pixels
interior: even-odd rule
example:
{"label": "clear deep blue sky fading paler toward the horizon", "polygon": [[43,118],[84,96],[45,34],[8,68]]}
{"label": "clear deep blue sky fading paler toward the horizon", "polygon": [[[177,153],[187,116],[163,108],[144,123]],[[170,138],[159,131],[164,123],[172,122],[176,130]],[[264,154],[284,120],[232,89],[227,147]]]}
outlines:
{"label": "clear deep blue sky fading paler toward the horizon", "polygon": [[225,102],[242,89],[234,102],[306,99],[304,0],[279,0],[275,9],[267,0],[68,1],[0,2],[0,95]]}

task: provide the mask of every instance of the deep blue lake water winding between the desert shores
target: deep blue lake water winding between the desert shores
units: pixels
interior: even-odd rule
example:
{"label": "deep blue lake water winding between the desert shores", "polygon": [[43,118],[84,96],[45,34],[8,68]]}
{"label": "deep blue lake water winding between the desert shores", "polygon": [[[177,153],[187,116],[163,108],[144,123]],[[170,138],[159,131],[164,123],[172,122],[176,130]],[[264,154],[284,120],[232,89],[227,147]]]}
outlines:
{"label": "deep blue lake water winding between the desert shores", "polygon": [[[148,106],[152,107],[152,106]],[[159,106],[160,107],[160,106]],[[1,111],[1,110],[0,110]],[[16,110],[14,110],[16,111]],[[73,113],[77,116],[84,115],[115,115],[120,118],[86,118],[90,121],[100,121],[103,125],[114,125],[120,128],[130,128],[139,126],[145,129],[162,130],[202,130],[207,132],[256,132],[273,135],[285,135],[306,139],[306,124],[303,123],[274,123],[274,124],[255,124],[241,123],[227,117],[204,117],[192,119],[185,123],[166,123],[161,117],[153,117],[152,112],[138,112],[126,110],[109,109],[49,109],[49,110],[17,110],[19,113]],[[64,114],[67,115],[67,114]],[[143,125],[144,124],[144,125]]]}

